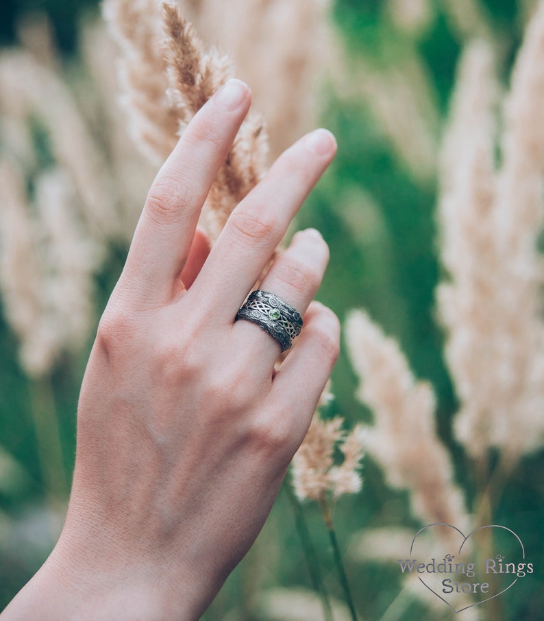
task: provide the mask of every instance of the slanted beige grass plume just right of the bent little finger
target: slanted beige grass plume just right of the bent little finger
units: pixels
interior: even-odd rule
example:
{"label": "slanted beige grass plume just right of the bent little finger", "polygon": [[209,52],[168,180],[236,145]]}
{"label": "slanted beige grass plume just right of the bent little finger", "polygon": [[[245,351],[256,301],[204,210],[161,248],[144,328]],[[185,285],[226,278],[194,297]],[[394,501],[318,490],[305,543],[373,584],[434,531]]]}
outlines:
{"label": "slanted beige grass plume just right of the bent little finger", "polygon": [[351,312],[345,335],[361,381],[358,396],[375,419],[365,427],[364,449],[393,487],[410,491],[412,511],[423,523],[464,529],[465,503],[449,454],[436,436],[430,385],[415,381],[395,341],[363,312]]}

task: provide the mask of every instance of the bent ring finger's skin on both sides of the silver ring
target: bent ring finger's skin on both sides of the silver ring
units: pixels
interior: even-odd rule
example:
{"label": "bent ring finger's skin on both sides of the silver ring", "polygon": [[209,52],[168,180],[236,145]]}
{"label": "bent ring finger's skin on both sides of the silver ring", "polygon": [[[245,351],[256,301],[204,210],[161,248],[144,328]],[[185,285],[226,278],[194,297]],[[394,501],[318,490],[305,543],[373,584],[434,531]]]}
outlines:
{"label": "bent ring finger's skin on both sides of the silver ring", "polygon": [[[271,266],[260,285],[295,308],[302,316],[316,294],[327,262],[329,250],[321,234],[315,229],[300,231],[293,237],[288,249]],[[251,321],[239,320],[234,325],[237,339],[258,351],[258,359],[270,368],[281,351],[280,342]]]}

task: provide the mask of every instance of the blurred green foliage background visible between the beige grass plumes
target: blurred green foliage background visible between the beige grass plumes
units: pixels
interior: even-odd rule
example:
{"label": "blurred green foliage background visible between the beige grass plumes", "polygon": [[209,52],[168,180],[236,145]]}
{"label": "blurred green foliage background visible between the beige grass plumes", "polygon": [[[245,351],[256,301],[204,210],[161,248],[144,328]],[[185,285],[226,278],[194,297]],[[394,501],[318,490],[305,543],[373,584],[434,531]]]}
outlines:
{"label": "blurred green foliage background visible between the beige grass plumes", "polygon": [[[486,24],[500,42],[499,69],[505,84],[521,40],[520,16],[528,4],[515,0],[481,3]],[[437,157],[460,50],[478,34],[478,27],[473,25],[471,31],[469,24],[462,29],[452,22],[443,3],[430,5],[432,17],[428,23],[412,30],[395,24],[388,16],[386,3],[380,0],[336,0],[332,16],[350,57],[363,58],[378,73],[404,66],[407,58],[421,60],[432,84],[437,111],[436,119],[430,119],[430,140],[434,141]],[[16,45],[16,24],[22,16],[36,11],[49,16],[63,62],[77,73],[79,23],[84,15],[98,12],[97,3],[4,0],[0,6],[3,47]],[[456,401],[443,361],[443,335],[435,321],[434,290],[441,277],[436,252],[436,171],[415,174],[364,99],[339,97],[332,87],[325,88],[322,99],[322,123],[338,139],[338,156],[297,220],[299,227],[320,229],[330,244],[332,258],[319,299],[342,320],[349,309],[368,309],[384,331],[397,338],[416,377],[432,381],[438,395],[438,430],[452,450],[456,475],[470,505],[474,481],[460,446],[452,438]],[[96,276],[96,318],[119,275],[125,252],[126,244],[114,244]],[[55,511],[62,514],[62,494],[66,490],[62,485],[55,490],[59,505],[51,507],[47,481],[40,468],[38,418],[45,411],[47,429],[48,408],[55,409],[62,468],[69,478],[75,452],[77,394],[89,348],[90,338],[86,346],[55,364],[50,381],[33,381],[18,363],[16,337],[0,318],[0,444],[11,456],[3,458],[5,464],[0,460],[0,608],[34,574],[53,545]],[[371,421],[369,412],[354,396],[357,383],[343,351],[333,375],[336,398],[330,414],[345,416],[350,424]],[[519,534],[536,566],[535,574],[519,581],[508,596],[502,597],[502,613],[508,621],[543,618],[543,464],[542,452],[522,462],[512,473],[493,515],[495,523]],[[342,498],[334,516],[362,618],[452,618],[447,611],[430,610],[410,596],[392,610],[391,603],[401,591],[397,568],[378,561],[360,561],[349,554],[354,535],[365,529],[404,526],[415,532],[421,526],[410,518],[408,494],[387,487],[382,472],[369,459],[364,461],[363,477],[362,492]],[[308,503],[304,511],[327,588],[341,600],[319,508]],[[404,552],[399,550],[401,554]],[[257,620],[262,617],[250,605],[256,591],[297,586],[311,588],[311,583],[295,529],[295,514],[284,490],[256,546],[232,574],[205,619]]]}

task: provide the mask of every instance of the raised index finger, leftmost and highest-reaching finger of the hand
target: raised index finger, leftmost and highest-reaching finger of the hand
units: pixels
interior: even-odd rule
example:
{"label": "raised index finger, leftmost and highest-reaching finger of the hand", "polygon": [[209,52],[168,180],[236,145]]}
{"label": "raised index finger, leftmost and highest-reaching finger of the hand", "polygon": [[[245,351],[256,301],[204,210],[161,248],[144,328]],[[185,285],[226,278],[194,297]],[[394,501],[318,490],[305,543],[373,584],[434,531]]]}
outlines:
{"label": "raised index finger, leftmost and highest-reaching finger of the hand", "polygon": [[172,295],[201,207],[250,103],[247,85],[228,81],[197,112],[153,181],[122,276],[140,299]]}

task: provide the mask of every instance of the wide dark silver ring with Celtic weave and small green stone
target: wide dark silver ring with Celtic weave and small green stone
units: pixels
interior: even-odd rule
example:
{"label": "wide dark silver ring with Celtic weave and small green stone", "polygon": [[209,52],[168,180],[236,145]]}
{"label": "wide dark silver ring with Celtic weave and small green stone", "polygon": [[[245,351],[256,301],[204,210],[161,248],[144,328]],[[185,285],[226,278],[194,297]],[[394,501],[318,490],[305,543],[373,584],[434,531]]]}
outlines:
{"label": "wide dark silver ring with Celtic weave and small green stone", "polygon": [[300,334],[302,318],[292,306],[267,291],[251,292],[247,302],[236,314],[236,321],[245,319],[258,325],[280,343],[282,351]]}

